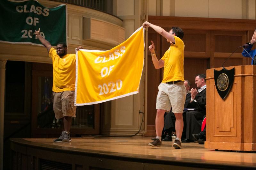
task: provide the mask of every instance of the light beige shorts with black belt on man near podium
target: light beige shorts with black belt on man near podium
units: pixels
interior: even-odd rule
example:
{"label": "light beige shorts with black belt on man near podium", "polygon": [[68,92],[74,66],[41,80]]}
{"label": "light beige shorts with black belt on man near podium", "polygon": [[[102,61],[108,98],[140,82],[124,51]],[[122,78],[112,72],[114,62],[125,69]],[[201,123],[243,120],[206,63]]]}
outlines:
{"label": "light beige shorts with black belt on man near podium", "polygon": [[156,109],[169,112],[172,108],[172,113],[183,113],[187,93],[183,81],[172,85],[161,83],[158,90]]}

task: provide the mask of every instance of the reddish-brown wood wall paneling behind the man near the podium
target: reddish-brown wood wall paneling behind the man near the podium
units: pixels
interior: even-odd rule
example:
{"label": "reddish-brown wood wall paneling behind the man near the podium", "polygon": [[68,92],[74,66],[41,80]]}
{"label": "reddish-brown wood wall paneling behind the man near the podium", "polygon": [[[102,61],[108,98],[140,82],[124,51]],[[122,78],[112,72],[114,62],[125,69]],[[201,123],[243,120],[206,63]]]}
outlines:
{"label": "reddish-brown wood wall paneling behind the man near the podium", "polygon": [[[256,24],[255,20],[249,19],[164,16],[148,16],[148,21],[161,26],[166,31],[170,31],[172,26],[179,26],[183,29],[185,44],[184,77],[191,82],[192,87],[195,87],[196,74],[205,74],[207,69],[221,67],[236,48],[249,42]],[[151,44],[151,40],[155,43],[156,55],[160,59],[170,47],[170,44],[149,28],[148,46]],[[237,49],[224,66],[249,65],[251,59],[243,57],[241,52],[242,48]],[[156,70],[149,51],[148,54],[147,123],[148,128],[152,129],[152,126],[155,125],[157,87],[163,78],[163,69]],[[227,127],[222,128],[226,130]],[[147,135],[155,135],[151,132],[152,130],[148,131]]]}

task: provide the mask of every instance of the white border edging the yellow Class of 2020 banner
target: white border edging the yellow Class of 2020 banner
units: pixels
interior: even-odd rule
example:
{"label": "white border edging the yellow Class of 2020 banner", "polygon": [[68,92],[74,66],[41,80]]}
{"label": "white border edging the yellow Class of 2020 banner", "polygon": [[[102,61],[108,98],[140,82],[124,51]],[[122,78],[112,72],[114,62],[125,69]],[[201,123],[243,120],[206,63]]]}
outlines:
{"label": "white border edging the yellow Class of 2020 banner", "polygon": [[[140,31],[142,26],[140,26],[134,33],[137,33],[138,31]],[[142,27],[143,28],[143,27]],[[132,33],[132,35],[134,34]],[[131,35],[131,36],[132,36]],[[130,37],[131,37],[130,36]],[[129,38],[130,38],[129,37]],[[129,39],[128,38],[128,39]],[[145,28],[143,28],[143,46],[144,46],[144,50],[143,50],[143,67],[144,67],[144,59],[145,59]],[[86,52],[104,52],[104,51],[101,51],[101,50],[87,50],[87,49],[80,49],[81,51],[86,51]],[[109,51],[109,50],[105,50],[105,51]],[[94,105],[94,104],[99,104],[99,103],[103,103],[103,102],[106,102],[106,101],[110,101],[110,100],[116,100],[116,99],[119,99],[119,98],[123,98],[123,97],[126,97],[126,96],[130,96],[130,95],[133,95],[133,94],[137,94],[139,93],[139,87],[140,87],[140,81],[141,81],[141,77],[142,77],[142,73],[143,73],[143,67],[142,67],[142,70],[141,70],[141,74],[140,74],[140,81],[139,81],[139,85],[138,85],[138,88],[137,88],[137,91],[135,92],[130,92],[130,93],[126,93],[126,94],[123,94],[123,95],[119,95],[119,96],[116,96],[116,97],[113,97],[113,98],[110,98],[110,99],[106,99],[106,100],[100,100],[100,101],[94,101],[94,102],[90,102],[90,103],[79,103],[77,104],[76,103],[76,97],[77,97],[77,79],[78,79],[78,51],[76,49],[76,84],[75,84],[75,102],[74,102],[74,105],[75,106],[84,106],[84,105]]]}

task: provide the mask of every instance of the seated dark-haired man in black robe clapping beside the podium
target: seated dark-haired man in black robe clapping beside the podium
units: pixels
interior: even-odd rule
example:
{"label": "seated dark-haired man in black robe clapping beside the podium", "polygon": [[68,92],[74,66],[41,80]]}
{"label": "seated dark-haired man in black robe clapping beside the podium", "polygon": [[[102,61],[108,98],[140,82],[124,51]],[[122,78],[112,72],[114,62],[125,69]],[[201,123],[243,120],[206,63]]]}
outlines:
{"label": "seated dark-haired man in black robe clapping beside the podium", "polygon": [[198,91],[191,88],[191,98],[187,108],[195,108],[195,110],[186,112],[186,139],[181,142],[193,142],[195,139],[192,136],[201,131],[201,123],[204,115],[206,115],[206,82],[205,74],[198,74],[195,78],[195,84]]}

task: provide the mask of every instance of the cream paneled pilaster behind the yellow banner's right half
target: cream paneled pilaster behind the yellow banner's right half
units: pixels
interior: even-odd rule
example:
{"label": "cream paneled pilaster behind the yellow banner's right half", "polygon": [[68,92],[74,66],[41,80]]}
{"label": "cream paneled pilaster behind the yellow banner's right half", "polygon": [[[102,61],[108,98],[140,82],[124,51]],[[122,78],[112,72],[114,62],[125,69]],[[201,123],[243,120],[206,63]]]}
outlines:
{"label": "cream paneled pilaster behind the yellow banner's right half", "polygon": [[[114,0],[115,14],[123,19],[125,38],[142,25],[142,0]],[[144,14],[143,14],[144,15]],[[144,21],[144,20],[143,20]],[[143,74],[142,76],[145,76]],[[140,129],[144,112],[144,77],[140,82],[140,93],[105,103],[104,122],[101,133],[105,135],[128,136],[137,133]],[[143,131],[143,127],[141,129]],[[141,133],[139,133],[141,135]]]}

